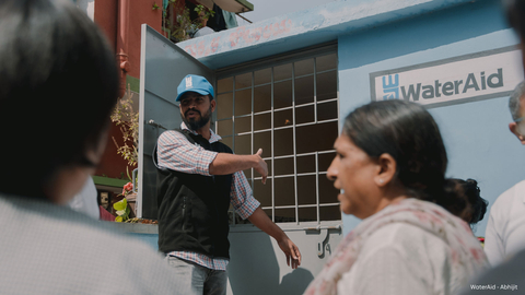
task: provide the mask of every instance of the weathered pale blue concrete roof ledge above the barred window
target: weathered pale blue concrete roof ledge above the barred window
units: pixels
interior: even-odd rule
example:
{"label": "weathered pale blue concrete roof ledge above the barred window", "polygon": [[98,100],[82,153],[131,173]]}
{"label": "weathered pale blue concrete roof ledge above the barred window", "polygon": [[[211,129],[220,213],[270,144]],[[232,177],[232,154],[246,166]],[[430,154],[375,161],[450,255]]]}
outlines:
{"label": "weathered pale blue concrete roof ledge above the barred window", "polygon": [[450,9],[471,0],[336,1],[178,43],[215,70],[337,40],[375,26]]}

